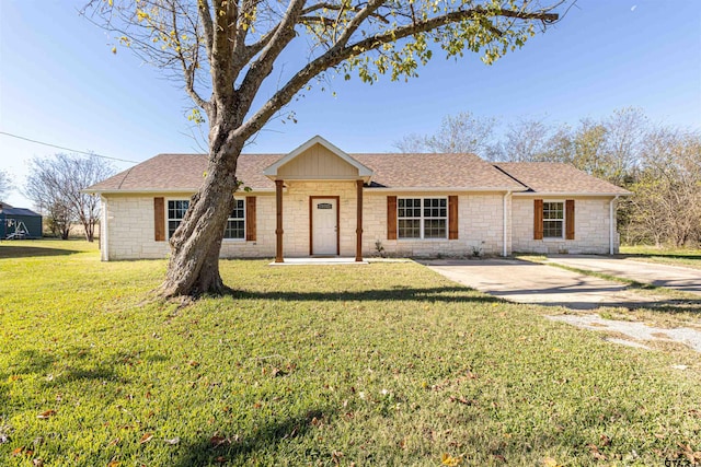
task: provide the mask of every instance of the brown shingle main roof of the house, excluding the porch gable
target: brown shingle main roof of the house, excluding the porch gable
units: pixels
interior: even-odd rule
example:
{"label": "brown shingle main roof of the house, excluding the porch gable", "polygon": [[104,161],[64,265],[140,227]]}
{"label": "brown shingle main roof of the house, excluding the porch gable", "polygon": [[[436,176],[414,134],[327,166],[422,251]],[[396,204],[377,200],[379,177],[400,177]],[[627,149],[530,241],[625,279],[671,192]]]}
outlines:
{"label": "brown shingle main roof of the house, excluding the porch gable", "polygon": [[[536,192],[620,194],[622,188],[555,163],[491,164],[474,154],[349,154],[374,171],[371,188],[462,188]],[[263,171],[285,154],[241,154],[237,174],[254,190],[273,189]],[[204,179],[205,154],[159,154],[88,191],[195,191]]]}

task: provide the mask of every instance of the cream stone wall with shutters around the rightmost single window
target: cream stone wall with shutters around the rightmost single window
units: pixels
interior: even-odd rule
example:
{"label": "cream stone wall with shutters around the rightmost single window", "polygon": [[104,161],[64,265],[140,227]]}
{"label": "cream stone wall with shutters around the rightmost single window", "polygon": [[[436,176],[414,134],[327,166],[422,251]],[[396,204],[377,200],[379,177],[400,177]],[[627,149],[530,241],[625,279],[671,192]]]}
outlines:
{"label": "cream stone wall with shutters around the rightmost single window", "polygon": [[[564,236],[570,240],[542,238],[542,202],[549,201],[565,205],[565,225],[563,229]],[[606,255],[610,247],[609,202],[609,197],[515,196],[512,205],[512,249],[513,252],[539,254],[589,253]],[[539,212],[540,219],[538,218]],[[567,221],[567,217],[570,217],[570,221]],[[541,226],[540,232],[538,225]],[[541,238],[537,238],[539,234]],[[616,245],[618,245],[618,240],[616,240]]]}

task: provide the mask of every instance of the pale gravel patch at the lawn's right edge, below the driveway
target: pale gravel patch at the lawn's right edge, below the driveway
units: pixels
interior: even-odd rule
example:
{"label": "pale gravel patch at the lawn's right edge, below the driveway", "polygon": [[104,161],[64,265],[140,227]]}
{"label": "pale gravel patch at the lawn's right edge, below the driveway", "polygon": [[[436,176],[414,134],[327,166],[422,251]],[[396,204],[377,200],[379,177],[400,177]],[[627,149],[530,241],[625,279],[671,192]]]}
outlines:
{"label": "pale gravel patch at the lawn's right edge, below the driveway", "polygon": [[[593,330],[610,330],[629,336],[639,341],[657,340],[667,342],[680,342],[690,347],[697,352],[701,352],[701,331],[691,328],[658,328],[647,326],[644,323],[621,322],[614,319],[605,319],[598,315],[556,315],[548,316],[555,322],[568,323],[571,325]],[[608,339],[616,342],[619,339]],[[623,342],[617,342],[623,343]],[[625,345],[637,345],[640,342],[625,342]]]}

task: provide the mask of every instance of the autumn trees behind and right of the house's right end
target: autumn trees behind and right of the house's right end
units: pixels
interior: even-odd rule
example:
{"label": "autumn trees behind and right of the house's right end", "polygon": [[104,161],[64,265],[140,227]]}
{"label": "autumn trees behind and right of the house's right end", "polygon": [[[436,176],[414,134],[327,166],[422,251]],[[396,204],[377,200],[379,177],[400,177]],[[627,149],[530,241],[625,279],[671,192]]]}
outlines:
{"label": "autumn trees behind and right of the house's right end", "polygon": [[562,162],[633,192],[619,207],[624,243],[701,244],[701,132],[622,108],[576,126],[524,118],[447,116],[435,133],[407,135],[401,152],[472,152],[490,161]]}

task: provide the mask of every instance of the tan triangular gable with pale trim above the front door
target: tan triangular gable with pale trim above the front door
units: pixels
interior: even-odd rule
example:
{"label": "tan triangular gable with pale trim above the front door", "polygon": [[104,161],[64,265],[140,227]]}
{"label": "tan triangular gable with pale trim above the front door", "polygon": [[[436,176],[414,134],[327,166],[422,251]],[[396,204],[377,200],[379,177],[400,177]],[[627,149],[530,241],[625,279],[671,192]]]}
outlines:
{"label": "tan triangular gable with pale trim above the front door", "polygon": [[357,179],[372,170],[315,136],[263,171],[271,179]]}

